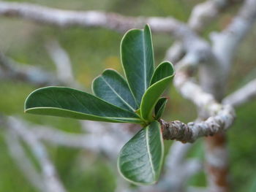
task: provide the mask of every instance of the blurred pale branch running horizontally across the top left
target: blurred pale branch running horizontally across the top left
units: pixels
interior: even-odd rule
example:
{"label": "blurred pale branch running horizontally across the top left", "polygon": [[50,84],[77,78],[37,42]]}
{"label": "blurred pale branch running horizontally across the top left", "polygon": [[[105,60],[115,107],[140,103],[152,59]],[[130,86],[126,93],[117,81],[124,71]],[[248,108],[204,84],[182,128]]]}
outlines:
{"label": "blurred pale branch running horizontally across the top left", "polygon": [[86,28],[102,27],[121,32],[127,31],[130,28],[141,27],[148,23],[150,24],[152,31],[170,34],[181,26],[181,23],[174,18],[133,18],[113,12],[69,11],[28,3],[6,1],[0,1],[0,15],[32,20],[36,23],[58,26],[61,28],[72,26]]}

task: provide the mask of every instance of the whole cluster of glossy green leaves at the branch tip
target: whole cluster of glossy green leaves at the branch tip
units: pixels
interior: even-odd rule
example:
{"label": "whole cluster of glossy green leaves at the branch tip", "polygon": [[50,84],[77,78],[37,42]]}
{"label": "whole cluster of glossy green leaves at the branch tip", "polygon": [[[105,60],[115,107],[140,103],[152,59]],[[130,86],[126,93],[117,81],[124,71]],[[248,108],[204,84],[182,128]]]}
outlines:
{"label": "whole cluster of glossy green leaves at the branch tip", "polygon": [[127,31],[121,41],[125,78],[106,69],[92,83],[94,94],[66,87],[39,88],[25,101],[25,112],[81,120],[138,123],[143,128],[118,157],[118,170],[136,184],[155,183],[162,166],[163,142],[159,118],[167,99],[161,97],[174,75],[173,65],[154,67],[151,30]]}

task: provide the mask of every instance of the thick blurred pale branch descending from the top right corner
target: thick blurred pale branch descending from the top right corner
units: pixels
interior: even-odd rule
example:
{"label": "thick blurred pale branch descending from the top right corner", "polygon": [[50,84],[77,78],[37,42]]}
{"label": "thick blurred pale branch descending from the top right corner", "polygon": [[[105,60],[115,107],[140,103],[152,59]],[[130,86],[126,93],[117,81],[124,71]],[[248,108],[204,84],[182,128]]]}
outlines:
{"label": "thick blurred pale branch descending from the top right corner", "polygon": [[[238,15],[221,33],[212,33],[212,53],[215,61],[200,67],[200,85],[204,91],[212,93],[221,101],[225,95],[225,88],[230,66],[241,39],[252,28],[256,18],[256,1],[246,0]],[[208,62],[207,62],[208,63]]]}

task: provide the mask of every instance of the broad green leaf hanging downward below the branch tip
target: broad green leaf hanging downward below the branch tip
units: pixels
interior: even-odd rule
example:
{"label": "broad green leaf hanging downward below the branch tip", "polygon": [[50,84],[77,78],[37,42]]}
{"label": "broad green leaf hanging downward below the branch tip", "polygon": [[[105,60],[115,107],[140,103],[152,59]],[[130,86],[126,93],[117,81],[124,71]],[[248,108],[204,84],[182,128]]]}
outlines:
{"label": "broad green leaf hanging downward below the branch tip", "polygon": [[162,167],[164,147],[161,126],[157,121],[142,128],[121,149],[118,170],[137,185],[156,183]]}

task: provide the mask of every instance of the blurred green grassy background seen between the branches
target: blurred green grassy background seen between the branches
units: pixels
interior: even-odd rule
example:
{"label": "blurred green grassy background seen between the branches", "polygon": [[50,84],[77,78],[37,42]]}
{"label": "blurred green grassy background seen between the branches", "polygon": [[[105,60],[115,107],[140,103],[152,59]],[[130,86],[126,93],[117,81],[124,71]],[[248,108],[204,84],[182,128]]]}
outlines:
{"label": "blurred green grassy background seen between the branches", "polygon": [[[22,2],[22,1],[19,1]],[[24,1],[48,7],[75,10],[105,10],[122,15],[172,16],[187,21],[196,0],[31,0]],[[208,38],[210,31],[219,31],[230,22],[237,7],[228,9],[221,18],[206,29],[203,36]],[[55,28],[43,26],[15,18],[0,17],[0,51],[24,67],[36,66],[49,74],[56,74],[56,64],[49,54],[49,47],[58,45],[69,55],[72,73],[82,86],[80,89],[91,93],[91,82],[105,68],[121,72],[119,45],[123,34],[102,28]],[[156,64],[165,57],[165,51],[173,43],[165,34],[153,34]],[[239,47],[233,64],[227,93],[256,77],[256,28]],[[0,68],[1,71],[1,68]],[[0,73],[1,74],[1,73]],[[54,85],[54,82],[53,84]],[[23,113],[26,96],[38,88],[28,82],[0,77],[0,112],[1,115],[15,115],[33,125],[50,126],[67,133],[81,133],[83,128],[78,120],[28,115]],[[244,104],[237,109],[237,120],[227,132],[230,150],[230,180],[232,191],[256,191],[256,101]],[[192,121],[196,118],[195,107],[170,88],[170,100],[165,111],[165,120]],[[86,124],[86,123],[85,123]],[[4,126],[3,123],[0,124]],[[91,127],[94,128],[94,127]],[[116,127],[118,128],[118,127]],[[0,191],[34,192],[36,189],[26,180],[7,147],[5,131],[0,128]],[[124,140],[125,142],[125,140]],[[44,142],[50,159],[56,166],[60,180],[70,192],[110,192],[115,191],[117,177],[113,169],[115,159],[106,158],[104,153],[91,153],[83,148],[51,145]],[[166,151],[172,144],[165,141]],[[29,147],[23,143],[26,154],[35,166],[37,161]],[[188,158],[196,157],[203,161],[203,139],[193,145]],[[189,179],[189,184],[206,185],[205,173],[198,172]]]}

